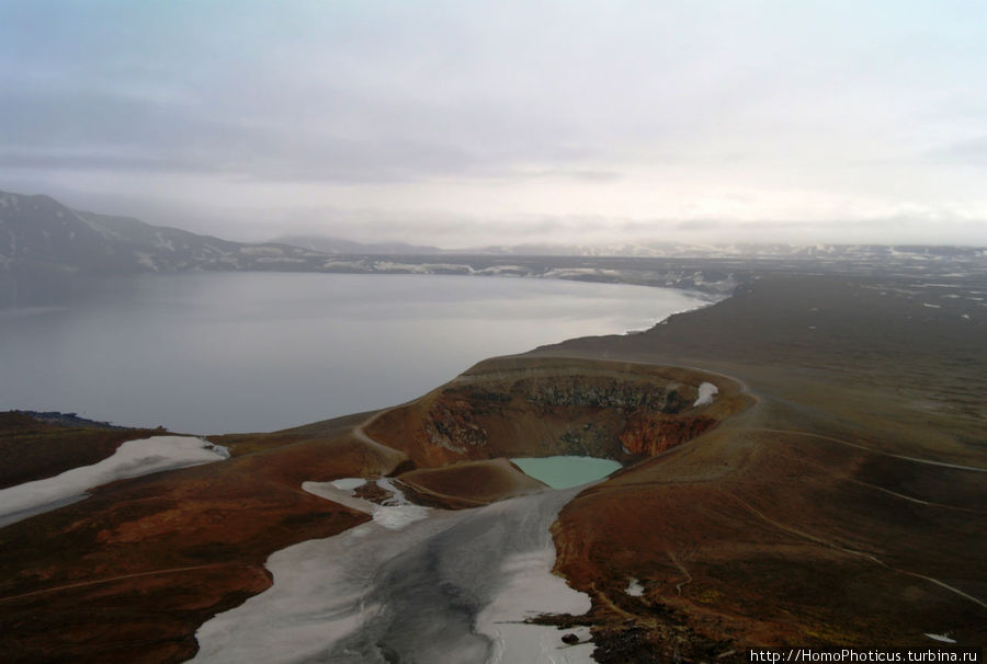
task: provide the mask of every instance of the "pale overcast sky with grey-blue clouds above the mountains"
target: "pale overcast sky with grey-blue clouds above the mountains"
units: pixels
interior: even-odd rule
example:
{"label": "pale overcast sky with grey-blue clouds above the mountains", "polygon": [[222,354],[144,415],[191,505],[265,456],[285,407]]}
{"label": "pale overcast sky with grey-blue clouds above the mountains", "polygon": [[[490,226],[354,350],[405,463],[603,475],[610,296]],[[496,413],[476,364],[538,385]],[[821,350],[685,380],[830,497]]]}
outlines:
{"label": "pale overcast sky with grey-blue clouds above the mountains", "polygon": [[261,241],[987,244],[987,3],[0,2],[0,190]]}

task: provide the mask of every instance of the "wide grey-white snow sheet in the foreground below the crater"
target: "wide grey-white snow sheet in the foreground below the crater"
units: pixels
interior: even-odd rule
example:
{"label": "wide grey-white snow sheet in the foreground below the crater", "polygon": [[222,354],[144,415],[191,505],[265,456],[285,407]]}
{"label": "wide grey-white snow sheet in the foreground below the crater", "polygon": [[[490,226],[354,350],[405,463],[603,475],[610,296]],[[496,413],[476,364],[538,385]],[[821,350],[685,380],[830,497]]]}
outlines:
{"label": "wide grey-white snow sheet in the foreground below the crater", "polygon": [[[376,515],[379,506],[352,496],[352,485],[304,488]],[[548,528],[577,492],[430,510],[393,529],[375,518],[279,551],[268,560],[274,585],[203,625],[193,661],[592,662],[585,630],[583,643],[570,646],[561,637],[574,630],[522,622],[590,607],[551,573]]]}

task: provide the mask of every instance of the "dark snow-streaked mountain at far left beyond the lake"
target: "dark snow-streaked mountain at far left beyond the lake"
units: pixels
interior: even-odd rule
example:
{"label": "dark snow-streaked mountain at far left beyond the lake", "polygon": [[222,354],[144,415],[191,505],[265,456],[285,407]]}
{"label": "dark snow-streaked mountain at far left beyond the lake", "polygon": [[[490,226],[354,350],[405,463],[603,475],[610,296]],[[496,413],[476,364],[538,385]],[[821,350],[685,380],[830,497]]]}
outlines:
{"label": "dark snow-streaked mountain at far left beyond the lake", "polygon": [[0,192],[0,271],[125,274],[188,270],[320,270],[326,256],[245,244],[127,217],[73,210],[49,196]]}

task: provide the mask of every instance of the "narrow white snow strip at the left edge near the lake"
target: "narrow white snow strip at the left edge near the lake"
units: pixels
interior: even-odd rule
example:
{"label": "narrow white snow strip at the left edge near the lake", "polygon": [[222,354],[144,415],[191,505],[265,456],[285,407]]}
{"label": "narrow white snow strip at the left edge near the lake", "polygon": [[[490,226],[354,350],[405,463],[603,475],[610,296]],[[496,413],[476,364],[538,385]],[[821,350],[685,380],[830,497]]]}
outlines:
{"label": "narrow white snow strip at the left edge near the lake", "polygon": [[80,501],[87,490],[101,484],[227,457],[225,447],[202,438],[154,436],[128,440],[99,463],[0,490],[0,527]]}

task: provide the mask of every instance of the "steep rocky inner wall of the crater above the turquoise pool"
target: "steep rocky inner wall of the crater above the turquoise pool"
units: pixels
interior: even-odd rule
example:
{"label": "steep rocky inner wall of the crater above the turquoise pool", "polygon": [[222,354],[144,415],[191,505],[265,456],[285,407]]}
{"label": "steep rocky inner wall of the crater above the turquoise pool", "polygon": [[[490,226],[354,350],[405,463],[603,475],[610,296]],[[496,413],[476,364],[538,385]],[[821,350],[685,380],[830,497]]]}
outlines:
{"label": "steep rocky inner wall of the crater above the turquoise pool", "polygon": [[739,408],[723,379],[677,368],[566,358],[477,365],[367,426],[420,468],[511,456],[588,455],[633,461],[703,434]]}

